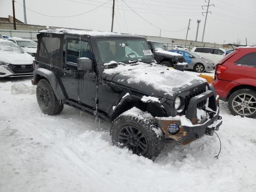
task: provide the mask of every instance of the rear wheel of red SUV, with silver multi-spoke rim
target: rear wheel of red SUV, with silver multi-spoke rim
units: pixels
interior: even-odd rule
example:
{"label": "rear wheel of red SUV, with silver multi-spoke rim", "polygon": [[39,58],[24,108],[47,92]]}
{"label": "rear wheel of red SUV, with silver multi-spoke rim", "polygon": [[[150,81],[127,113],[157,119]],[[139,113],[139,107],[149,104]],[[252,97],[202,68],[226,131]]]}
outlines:
{"label": "rear wheel of red SUV, with silver multi-spoke rim", "polygon": [[250,89],[240,89],[228,99],[228,108],[233,115],[245,117],[256,116],[256,92]]}

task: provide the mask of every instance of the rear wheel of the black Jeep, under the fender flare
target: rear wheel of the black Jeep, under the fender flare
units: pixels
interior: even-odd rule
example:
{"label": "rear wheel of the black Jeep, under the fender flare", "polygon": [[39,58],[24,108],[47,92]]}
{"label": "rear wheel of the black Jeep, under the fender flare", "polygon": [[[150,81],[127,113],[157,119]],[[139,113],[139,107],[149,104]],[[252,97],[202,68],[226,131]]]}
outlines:
{"label": "rear wheel of the black Jeep, under the fender flare", "polygon": [[36,99],[43,113],[59,114],[63,110],[63,102],[58,100],[48,80],[41,79],[36,87]]}

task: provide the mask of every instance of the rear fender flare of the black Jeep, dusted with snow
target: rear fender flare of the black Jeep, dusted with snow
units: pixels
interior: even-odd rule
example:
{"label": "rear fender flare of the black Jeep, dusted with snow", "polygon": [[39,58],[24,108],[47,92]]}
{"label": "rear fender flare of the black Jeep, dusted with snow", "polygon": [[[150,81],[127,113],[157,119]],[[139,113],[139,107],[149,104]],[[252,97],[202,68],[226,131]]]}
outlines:
{"label": "rear fender flare of the black Jeep, dusted with snow", "polygon": [[58,100],[66,99],[60,87],[60,83],[58,82],[55,74],[52,71],[45,68],[37,68],[34,71],[34,77],[33,77],[34,84],[35,85],[38,84],[39,80],[42,79],[42,77],[46,78],[50,82],[50,85]]}

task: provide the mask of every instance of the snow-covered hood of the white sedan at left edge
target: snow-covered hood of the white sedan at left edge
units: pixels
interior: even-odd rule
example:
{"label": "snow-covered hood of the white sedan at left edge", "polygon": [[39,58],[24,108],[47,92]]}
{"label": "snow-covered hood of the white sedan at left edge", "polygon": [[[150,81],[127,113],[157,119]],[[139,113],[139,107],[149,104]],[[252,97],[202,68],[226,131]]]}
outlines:
{"label": "snow-covered hood of the white sedan at left edge", "polygon": [[0,61],[10,64],[32,64],[34,58],[28,53],[0,51]]}

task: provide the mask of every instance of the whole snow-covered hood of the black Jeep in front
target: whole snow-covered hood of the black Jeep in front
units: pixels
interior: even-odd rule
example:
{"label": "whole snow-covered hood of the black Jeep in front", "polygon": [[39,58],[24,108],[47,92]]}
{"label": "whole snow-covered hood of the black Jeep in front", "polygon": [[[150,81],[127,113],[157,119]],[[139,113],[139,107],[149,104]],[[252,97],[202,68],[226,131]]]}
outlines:
{"label": "whole snow-covered hood of the black Jeep in front", "polygon": [[206,80],[200,77],[169,69],[158,64],[119,64],[115,68],[104,69],[103,78],[115,84],[173,100],[176,94],[193,88]]}

